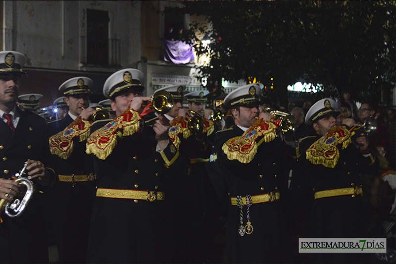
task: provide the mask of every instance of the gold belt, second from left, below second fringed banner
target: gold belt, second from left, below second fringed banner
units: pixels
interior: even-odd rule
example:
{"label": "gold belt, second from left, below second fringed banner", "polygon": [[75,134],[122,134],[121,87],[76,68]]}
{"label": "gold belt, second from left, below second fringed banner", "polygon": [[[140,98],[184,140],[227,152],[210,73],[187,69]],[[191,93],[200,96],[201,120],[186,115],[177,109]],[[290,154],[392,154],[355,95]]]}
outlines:
{"label": "gold belt, second from left, below second fringed banner", "polygon": [[[120,198],[120,199],[134,199],[134,200],[149,200],[149,201],[151,201],[151,197],[149,197],[148,191],[140,191],[140,190],[119,190],[119,189],[98,188],[98,190],[96,192],[96,196],[104,197],[104,198]],[[157,192],[156,200],[157,201],[165,200],[165,193]]]}

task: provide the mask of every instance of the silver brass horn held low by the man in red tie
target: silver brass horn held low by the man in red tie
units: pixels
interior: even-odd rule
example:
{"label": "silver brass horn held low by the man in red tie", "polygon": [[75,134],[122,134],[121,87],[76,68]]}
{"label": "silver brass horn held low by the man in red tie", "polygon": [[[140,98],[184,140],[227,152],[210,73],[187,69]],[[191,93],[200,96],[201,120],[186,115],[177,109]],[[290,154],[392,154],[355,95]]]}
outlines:
{"label": "silver brass horn held low by the man in red tie", "polygon": [[28,162],[25,162],[23,168],[19,173],[15,174],[16,180],[15,182],[19,183],[20,185],[24,186],[24,191],[25,195],[23,199],[20,199],[20,197],[14,197],[13,195],[6,194],[7,197],[9,198],[14,198],[14,200],[10,201],[5,201],[4,199],[1,199],[0,201],[0,211],[4,209],[5,214],[7,214],[9,217],[16,217],[21,215],[23,210],[25,210],[27,204],[29,203],[30,198],[33,195],[34,191],[34,185],[33,183],[26,177],[22,177],[22,175],[25,173],[26,167],[28,166]]}

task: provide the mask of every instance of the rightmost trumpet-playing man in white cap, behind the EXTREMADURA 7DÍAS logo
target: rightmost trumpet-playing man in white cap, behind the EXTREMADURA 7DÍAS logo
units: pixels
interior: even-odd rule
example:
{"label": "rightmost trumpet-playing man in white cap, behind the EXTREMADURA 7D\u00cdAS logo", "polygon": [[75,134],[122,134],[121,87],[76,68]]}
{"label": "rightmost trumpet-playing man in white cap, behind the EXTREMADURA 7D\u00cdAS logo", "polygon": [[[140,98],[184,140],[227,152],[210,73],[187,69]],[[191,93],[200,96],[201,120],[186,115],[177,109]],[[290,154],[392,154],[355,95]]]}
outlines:
{"label": "rightmost trumpet-playing man in white cap, behind the EXTREMADURA 7D\u00cdAS logo", "polygon": [[[367,194],[362,191],[361,177],[377,171],[378,159],[369,148],[366,134],[349,131],[354,125],[352,118],[336,126],[340,113],[336,106],[329,98],[311,106],[305,122],[315,136],[301,140],[295,157],[313,188],[308,237],[365,237],[367,210],[362,196]],[[366,258],[365,254],[312,254],[315,263],[363,263]]]}

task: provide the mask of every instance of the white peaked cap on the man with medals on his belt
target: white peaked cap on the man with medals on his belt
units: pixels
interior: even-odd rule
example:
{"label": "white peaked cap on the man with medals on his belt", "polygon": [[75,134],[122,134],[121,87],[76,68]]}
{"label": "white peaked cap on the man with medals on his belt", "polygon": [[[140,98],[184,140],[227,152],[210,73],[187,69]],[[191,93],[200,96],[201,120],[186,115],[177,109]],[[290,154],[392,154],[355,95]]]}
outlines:
{"label": "white peaked cap on the man with medals on his belt", "polygon": [[261,86],[261,83],[252,83],[235,89],[224,98],[224,105],[231,107],[260,103]]}

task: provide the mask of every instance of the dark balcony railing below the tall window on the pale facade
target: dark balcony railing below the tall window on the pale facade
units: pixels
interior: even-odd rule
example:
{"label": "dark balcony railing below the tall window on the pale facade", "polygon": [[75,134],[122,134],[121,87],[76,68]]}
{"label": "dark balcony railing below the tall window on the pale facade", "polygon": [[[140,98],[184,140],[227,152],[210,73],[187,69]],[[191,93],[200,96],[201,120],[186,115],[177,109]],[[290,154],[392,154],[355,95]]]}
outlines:
{"label": "dark balcony railing below the tall window on the pale facade", "polygon": [[80,61],[85,65],[120,66],[120,40],[88,41],[87,36],[82,36]]}

